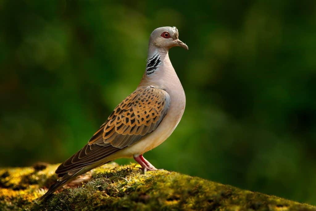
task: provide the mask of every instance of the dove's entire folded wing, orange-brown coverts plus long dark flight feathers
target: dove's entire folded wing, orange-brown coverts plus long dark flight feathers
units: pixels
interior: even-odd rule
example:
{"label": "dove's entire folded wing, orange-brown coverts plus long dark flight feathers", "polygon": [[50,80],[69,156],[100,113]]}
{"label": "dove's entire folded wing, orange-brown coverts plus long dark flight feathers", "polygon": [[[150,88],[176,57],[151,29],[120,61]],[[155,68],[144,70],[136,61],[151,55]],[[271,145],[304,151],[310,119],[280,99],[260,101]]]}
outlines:
{"label": "dove's entire folded wing, orange-brown coverts plus long dark flight feathers", "polygon": [[158,127],[169,105],[170,96],[165,90],[147,86],[134,91],[114,109],[88,144],[61,164],[56,173],[63,176],[136,143]]}

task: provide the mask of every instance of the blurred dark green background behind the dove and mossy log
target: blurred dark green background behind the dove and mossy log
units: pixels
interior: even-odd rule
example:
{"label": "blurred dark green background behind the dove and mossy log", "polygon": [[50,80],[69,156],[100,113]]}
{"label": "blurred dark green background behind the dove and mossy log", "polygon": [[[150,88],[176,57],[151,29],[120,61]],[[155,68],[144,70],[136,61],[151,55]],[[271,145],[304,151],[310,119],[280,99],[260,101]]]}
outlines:
{"label": "blurred dark green background behind the dove and mossy log", "polygon": [[[187,97],[157,168],[316,205],[316,1],[0,1],[0,166],[63,162],[138,85],[149,35]],[[117,162],[129,163],[121,159]]]}

